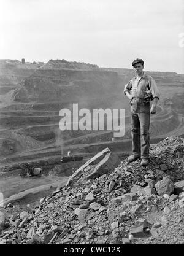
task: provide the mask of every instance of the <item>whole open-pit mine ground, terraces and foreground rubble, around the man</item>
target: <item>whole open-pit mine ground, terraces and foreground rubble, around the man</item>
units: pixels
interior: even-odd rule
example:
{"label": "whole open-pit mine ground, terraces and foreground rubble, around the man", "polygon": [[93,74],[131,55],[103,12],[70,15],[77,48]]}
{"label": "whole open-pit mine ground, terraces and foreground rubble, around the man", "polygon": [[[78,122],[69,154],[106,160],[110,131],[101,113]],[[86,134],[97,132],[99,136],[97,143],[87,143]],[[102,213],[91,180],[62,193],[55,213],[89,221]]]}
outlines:
{"label": "whole open-pit mine ground, terraces and foreground rubble, around the man", "polygon": [[[146,72],[161,97],[141,168],[126,162],[131,69],[0,60],[0,243],[184,242],[184,75]],[[59,111],[74,104],[125,109],[125,133],[61,130]]]}

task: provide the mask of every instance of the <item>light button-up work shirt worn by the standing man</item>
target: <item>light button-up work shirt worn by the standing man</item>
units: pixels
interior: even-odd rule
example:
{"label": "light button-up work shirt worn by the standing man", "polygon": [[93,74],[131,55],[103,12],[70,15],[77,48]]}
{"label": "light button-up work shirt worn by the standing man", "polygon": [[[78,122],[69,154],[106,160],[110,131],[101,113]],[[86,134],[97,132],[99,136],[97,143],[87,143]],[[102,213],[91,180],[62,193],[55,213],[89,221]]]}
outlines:
{"label": "light button-up work shirt worn by the standing man", "polygon": [[133,97],[144,99],[146,90],[151,91],[153,99],[159,99],[159,90],[155,80],[144,72],[142,77],[134,77],[125,85],[124,93],[128,91]]}

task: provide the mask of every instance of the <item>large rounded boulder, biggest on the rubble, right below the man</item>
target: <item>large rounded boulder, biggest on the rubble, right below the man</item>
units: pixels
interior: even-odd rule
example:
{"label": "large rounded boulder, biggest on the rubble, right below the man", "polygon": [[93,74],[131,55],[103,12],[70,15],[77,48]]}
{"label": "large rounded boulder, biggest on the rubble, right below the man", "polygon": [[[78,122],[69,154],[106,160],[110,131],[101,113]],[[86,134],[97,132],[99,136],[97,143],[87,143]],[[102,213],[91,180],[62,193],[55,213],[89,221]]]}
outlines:
{"label": "large rounded boulder, biggest on the rubble, right below the man", "polygon": [[159,196],[163,196],[164,194],[171,195],[174,192],[174,183],[166,176],[155,184],[155,188]]}

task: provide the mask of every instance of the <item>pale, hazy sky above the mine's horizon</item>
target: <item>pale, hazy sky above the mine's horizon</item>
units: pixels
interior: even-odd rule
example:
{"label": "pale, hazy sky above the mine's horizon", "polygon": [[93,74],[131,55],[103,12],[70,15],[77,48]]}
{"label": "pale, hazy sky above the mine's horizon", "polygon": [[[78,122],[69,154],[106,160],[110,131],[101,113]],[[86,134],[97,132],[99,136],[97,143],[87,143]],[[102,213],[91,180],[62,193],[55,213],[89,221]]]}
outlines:
{"label": "pale, hazy sky above the mine's horizon", "polygon": [[184,0],[0,0],[0,59],[184,74]]}

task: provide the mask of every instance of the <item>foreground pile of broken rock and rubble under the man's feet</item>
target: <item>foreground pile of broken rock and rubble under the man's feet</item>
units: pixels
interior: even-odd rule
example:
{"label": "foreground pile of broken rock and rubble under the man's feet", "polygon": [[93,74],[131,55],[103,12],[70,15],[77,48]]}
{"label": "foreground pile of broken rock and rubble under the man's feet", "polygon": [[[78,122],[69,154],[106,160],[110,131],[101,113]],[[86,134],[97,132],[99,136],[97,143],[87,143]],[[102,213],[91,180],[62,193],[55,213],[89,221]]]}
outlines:
{"label": "foreground pile of broken rock and rubble under the man's feet", "polygon": [[[123,161],[95,173],[110,153],[105,149],[91,158],[36,209],[7,217],[2,213],[0,242],[184,243],[183,139],[153,145],[146,168],[140,161]],[[3,210],[9,209],[16,206]]]}

